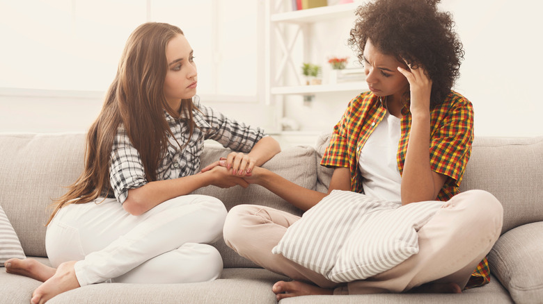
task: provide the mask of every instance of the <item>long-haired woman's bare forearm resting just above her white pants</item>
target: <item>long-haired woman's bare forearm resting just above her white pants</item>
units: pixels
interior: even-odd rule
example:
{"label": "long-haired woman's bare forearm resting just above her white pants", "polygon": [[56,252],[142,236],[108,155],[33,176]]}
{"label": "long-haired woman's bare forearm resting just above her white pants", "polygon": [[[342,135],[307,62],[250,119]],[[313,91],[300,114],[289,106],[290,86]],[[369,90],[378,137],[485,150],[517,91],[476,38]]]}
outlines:
{"label": "long-haired woman's bare forearm resting just above her white pants", "polygon": [[157,180],[136,189],[129,189],[123,208],[132,215],[140,215],[164,201],[190,194],[200,187],[211,184],[211,172],[171,180]]}

